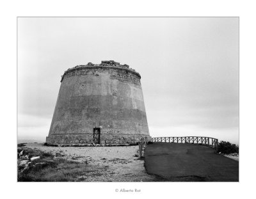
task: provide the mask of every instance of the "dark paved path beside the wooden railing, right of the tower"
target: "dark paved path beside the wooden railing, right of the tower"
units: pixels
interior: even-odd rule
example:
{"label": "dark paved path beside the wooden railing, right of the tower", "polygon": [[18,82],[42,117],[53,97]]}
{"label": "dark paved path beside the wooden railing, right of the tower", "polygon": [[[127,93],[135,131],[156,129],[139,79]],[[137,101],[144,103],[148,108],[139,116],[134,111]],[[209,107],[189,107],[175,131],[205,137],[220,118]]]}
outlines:
{"label": "dark paved path beside the wooden railing, right of the tower", "polygon": [[239,162],[203,145],[153,143],[145,149],[145,167],[161,181],[239,181]]}

